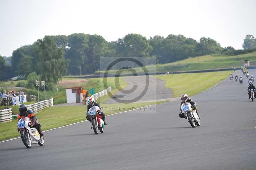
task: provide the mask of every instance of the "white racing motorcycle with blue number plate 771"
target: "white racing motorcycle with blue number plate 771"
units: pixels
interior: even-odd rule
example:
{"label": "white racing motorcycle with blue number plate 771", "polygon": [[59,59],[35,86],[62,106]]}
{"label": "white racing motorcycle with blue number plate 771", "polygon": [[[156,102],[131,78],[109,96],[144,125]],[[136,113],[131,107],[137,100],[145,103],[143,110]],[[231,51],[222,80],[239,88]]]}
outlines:
{"label": "white racing motorcycle with blue number plate 771", "polygon": [[186,103],[183,103],[181,105],[181,111],[183,112],[183,114],[187,117],[188,119],[188,122],[190,123],[190,125],[195,128],[195,126],[200,126],[200,120],[199,120],[199,117],[196,113],[196,110],[193,110],[191,108],[191,104],[186,102]]}

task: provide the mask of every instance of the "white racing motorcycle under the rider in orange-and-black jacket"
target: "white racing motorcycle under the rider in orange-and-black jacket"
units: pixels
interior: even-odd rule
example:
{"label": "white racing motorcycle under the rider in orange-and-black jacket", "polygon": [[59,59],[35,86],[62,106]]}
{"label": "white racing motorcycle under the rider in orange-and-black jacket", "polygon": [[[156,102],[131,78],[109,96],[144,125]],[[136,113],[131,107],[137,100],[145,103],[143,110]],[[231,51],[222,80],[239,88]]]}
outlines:
{"label": "white racing motorcycle under the rider in orange-and-black jacket", "polygon": [[39,134],[34,123],[29,118],[20,119],[17,126],[20,129],[22,142],[27,148],[31,148],[32,143],[44,146],[44,137]]}

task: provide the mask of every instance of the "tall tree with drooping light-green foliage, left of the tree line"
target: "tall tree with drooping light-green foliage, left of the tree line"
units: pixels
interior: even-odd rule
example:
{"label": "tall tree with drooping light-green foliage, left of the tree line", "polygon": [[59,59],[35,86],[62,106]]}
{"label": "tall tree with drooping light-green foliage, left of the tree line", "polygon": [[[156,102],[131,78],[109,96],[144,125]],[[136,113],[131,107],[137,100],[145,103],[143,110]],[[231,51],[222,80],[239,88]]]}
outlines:
{"label": "tall tree with drooping light-green foliage, left of the tree line", "polygon": [[37,44],[39,46],[41,80],[56,85],[61,76],[67,73],[68,60],[64,58],[64,49],[58,48],[50,36],[45,36],[43,40],[37,40]]}

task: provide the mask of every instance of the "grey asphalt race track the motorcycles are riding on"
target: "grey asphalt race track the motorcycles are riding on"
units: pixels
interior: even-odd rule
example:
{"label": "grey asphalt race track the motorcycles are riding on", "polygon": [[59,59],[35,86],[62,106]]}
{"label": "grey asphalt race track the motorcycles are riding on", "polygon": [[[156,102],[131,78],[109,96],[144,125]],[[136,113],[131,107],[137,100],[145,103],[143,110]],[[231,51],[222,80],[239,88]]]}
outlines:
{"label": "grey asphalt race track the motorcycles are riding on", "polygon": [[227,79],[191,97],[200,127],[178,117],[180,101],[167,102],[149,106],[152,114],[108,116],[103,134],[86,121],[45,132],[42,147],[27,149],[20,138],[0,143],[0,169],[256,169],[256,101],[247,82]]}

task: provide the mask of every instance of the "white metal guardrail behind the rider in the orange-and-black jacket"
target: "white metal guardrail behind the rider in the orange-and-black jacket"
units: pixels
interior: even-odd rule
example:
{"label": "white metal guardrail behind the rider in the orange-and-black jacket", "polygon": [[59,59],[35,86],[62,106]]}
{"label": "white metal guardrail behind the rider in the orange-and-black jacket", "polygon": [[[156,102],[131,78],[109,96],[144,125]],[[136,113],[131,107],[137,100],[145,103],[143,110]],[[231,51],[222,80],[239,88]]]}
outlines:
{"label": "white metal guardrail behind the rider in the orange-and-black jacket", "polygon": [[[34,113],[37,113],[44,108],[53,106],[53,98],[49,100],[44,100],[38,103],[29,104],[28,109],[32,110]],[[12,108],[0,110],[0,122],[9,122],[12,121],[13,117],[17,115],[12,115]]]}

